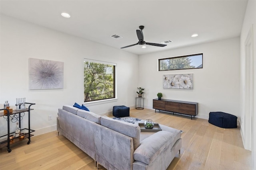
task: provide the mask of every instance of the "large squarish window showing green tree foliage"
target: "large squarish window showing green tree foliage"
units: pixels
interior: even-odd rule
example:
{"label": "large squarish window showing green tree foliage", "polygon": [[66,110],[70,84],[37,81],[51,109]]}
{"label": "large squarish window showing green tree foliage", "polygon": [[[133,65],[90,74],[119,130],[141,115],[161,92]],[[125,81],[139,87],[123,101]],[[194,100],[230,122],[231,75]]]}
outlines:
{"label": "large squarish window showing green tree foliage", "polygon": [[115,98],[114,63],[84,59],[84,102]]}

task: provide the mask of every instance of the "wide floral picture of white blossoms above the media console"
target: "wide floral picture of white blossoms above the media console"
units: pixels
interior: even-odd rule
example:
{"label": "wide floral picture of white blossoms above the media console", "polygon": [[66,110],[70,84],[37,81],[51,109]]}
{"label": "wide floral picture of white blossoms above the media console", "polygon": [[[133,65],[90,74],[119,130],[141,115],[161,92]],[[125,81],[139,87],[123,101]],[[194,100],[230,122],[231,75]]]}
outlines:
{"label": "wide floral picture of white blossoms above the media console", "polygon": [[193,74],[163,75],[163,88],[193,89]]}

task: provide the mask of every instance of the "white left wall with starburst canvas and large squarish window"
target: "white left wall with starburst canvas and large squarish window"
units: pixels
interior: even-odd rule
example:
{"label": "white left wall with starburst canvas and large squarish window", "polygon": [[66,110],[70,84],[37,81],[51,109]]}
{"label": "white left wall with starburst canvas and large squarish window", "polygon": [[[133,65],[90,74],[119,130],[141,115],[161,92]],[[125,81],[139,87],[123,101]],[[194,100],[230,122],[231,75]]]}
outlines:
{"label": "white left wall with starburst canvas and large squarish window", "polygon": [[[58,108],[83,103],[84,58],[117,63],[117,96],[115,102],[92,105],[96,114],[112,111],[115,105],[134,107],[138,84],[138,55],[87,41],[39,25],[1,15],[0,40],[0,108],[8,100],[15,108],[16,98],[26,98],[32,106],[31,128],[34,134],[56,129]],[[28,59],[64,62],[64,88],[55,90],[28,89]],[[85,104],[86,105],[86,104]],[[48,115],[52,120],[48,121]],[[23,127],[27,117],[22,121]],[[0,133],[6,134],[6,120],[0,119]],[[12,123],[11,129],[16,124]]]}

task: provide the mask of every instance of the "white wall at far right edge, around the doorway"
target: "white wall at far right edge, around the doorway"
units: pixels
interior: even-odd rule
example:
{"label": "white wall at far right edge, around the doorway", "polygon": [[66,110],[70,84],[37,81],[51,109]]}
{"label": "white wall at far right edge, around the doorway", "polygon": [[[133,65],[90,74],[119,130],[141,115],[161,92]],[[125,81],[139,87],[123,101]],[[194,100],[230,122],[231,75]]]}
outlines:
{"label": "white wall at far right edge, around the doorway", "polygon": [[[254,113],[252,114],[252,162],[254,163],[253,165],[253,169],[256,170],[256,74],[255,74],[255,66],[256,66],[256,1],[255,0],[249,0],[248,4],[247,4],[247,9],[246,9],[246,14],[244,16],[244,23],[242,26],[242,31],[241,31],[241,35],[240,35],[240,95],[241,95],[241,104],[240,104],[240,112],[241,112],[241,118],[243,120],[246,119],[245,117],[245,87],[246,87],[246,50],[245,50],[245,42],[246,42],[246,38],[248,35],[248,32],[250,31],[250,28],[252,27],[252,31],[253,31],[253,35],[252,35],[252,42],[253,47],[252,47],[252,51],[253,51],[253,56],[254,56],[254,78],[252,81],[254,81],[254,102],[253,102],[253,108],[254,108]],[[250,119],[250,117],[249,117]],[[244,143],[247,143],[248,139],[245,136],[245,121],[241,122],[241,131],[242,131],[242,138],[244,140]]]}

